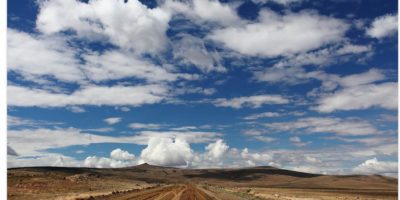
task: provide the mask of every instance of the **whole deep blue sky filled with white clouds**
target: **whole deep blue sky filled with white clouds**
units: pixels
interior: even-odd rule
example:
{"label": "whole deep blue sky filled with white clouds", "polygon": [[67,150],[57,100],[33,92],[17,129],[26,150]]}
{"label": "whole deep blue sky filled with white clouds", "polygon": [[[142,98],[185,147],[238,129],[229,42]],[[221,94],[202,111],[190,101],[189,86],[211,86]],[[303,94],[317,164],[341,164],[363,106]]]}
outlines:
{"label": "whole deep blue sky filled with white clouds", "polygon": [[8,167],[397,174],[397,1],[8,2]]}

